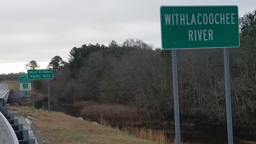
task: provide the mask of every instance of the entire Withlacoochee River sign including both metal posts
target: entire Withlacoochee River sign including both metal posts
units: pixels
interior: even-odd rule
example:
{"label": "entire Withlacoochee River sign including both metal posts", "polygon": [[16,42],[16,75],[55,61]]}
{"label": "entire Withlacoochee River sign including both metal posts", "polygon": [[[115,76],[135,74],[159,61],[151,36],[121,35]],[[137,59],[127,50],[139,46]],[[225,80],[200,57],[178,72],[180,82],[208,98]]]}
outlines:
{"label": "entire Withlacoochee River sign including both metal posts", "polygon": [[175,49],[224,48],[228,142],[233,144],[228,49],[239,47],[238,6],[161,6],[162,49],[172,49],[176,144],[180,118]]}

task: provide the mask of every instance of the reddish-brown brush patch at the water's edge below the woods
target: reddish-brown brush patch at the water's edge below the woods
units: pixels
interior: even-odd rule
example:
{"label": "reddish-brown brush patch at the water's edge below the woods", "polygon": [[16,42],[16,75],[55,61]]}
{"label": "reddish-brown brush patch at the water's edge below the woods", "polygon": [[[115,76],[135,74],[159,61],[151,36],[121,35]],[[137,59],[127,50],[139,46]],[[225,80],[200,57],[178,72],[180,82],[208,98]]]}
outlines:
{"label": "reddish-brown brush patch at the water's edge below the woods", "polygon": [[145,109],[136,109],[124,105],[96,104],[92,101],[76,103],[81,109],[82,118],[88,121],[102,120],[115,124],[145,124],[151,121],[150,113]]}

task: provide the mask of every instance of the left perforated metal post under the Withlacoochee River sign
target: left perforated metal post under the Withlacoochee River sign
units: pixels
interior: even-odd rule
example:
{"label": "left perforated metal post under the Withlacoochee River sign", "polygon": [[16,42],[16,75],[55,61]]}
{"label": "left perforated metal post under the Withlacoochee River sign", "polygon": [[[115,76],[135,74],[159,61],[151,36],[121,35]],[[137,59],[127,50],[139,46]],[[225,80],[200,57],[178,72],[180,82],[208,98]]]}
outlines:
{"label": "left perforated metal post under the Withlacoochee River sign", "polygon": [[172,49],[172,81],[173,81],[173,98],[175,114],[175,137],[176,144],[180,144],[180,110],[178,95],[178,74],[177,74],[177,57],[176,50]]}

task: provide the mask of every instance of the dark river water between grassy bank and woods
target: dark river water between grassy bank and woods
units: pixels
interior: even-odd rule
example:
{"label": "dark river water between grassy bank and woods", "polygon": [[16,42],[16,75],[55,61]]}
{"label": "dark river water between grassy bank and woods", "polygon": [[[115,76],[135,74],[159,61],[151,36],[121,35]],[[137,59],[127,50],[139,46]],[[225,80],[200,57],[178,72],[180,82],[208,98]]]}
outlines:
{"label": "dark river water between grassy bank and woods", "polygon": [[[48,110],[47,101],[38,101],[35,108]],[[80,112],[73,105],[65,103],[50,103],[50,111],[64,112],[74,117],[81,117]],[[164,130],[169,137],[174,138],[175,127],[173,126],[146,126],[151,130]],[[183,142],[191,144],[228,144],[227,126],[201,126],[201,127],[180,127],[180,135]],[[245,144],[242,141],[255,141],[256,144],[256,128],[233,127],[233,143]]]}

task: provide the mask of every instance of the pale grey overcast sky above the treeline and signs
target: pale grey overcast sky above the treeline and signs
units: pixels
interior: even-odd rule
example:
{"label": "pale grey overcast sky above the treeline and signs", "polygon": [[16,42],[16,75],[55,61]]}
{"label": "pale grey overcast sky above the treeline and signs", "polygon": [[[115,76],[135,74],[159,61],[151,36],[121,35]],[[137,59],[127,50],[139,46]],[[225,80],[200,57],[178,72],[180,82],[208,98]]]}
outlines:
{"label": "pale grey overcast sky above the treeline and signs", "polygon": [[89,43],[138,38],[160,48],[160,6],[211,5],[237,5],[243,15],[256,0],[0,0],[0,74],[23,72],[31,60],[46,69]]}

